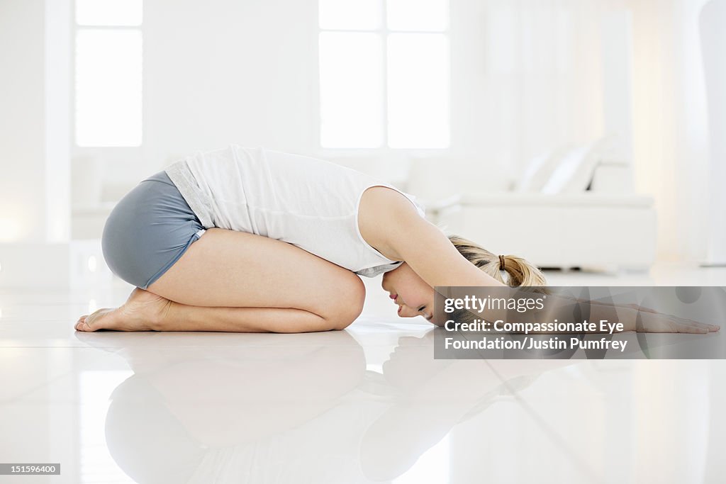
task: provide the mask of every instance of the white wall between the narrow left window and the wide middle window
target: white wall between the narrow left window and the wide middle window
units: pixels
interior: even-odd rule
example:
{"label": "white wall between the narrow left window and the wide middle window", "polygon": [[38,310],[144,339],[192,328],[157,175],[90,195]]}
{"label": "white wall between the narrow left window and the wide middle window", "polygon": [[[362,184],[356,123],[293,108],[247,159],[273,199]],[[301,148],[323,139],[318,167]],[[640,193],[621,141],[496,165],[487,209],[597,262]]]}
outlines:
{"label": "white wall between the narrow left window and the wide middle window", "polygon": [[95,155],[107,184],[229,143],[314,149],[317,1],[144,1],[144,141]]}

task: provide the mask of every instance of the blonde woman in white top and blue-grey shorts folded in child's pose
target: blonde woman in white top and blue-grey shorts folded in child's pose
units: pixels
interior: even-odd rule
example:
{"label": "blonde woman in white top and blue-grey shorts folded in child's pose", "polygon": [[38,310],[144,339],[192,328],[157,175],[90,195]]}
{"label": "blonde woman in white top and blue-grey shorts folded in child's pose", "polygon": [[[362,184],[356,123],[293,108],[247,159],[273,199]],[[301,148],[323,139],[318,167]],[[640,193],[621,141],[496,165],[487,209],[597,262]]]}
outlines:
{"label": "blonde woman in white top and blue-grey shorts folded in child's pose", "polygon": [[[363,308],[359,276],[378,274],[399,316],[441,324],[433,287],[546,284],[521,258],[447,237],[415,197],[391,185],[234,144],[140,182],[110,214],[102,248],[111,270],[136,288],[121,307],[81,316],[78,331],[343,329]],[[635,309],[621,311],[635,324]],[[654,319],[646,330],[717,329],[694,324]]]}

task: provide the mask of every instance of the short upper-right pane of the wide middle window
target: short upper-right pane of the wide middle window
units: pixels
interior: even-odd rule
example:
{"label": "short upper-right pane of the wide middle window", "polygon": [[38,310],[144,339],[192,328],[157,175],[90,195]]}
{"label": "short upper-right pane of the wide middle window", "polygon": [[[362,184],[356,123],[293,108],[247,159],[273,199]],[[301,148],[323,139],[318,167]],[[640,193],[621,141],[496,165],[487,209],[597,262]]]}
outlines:
{"label": "short upper-right pane of the wide middle window", "polygon": [[391,30],[441,31],[449,27],[449,0],[388,0]]}

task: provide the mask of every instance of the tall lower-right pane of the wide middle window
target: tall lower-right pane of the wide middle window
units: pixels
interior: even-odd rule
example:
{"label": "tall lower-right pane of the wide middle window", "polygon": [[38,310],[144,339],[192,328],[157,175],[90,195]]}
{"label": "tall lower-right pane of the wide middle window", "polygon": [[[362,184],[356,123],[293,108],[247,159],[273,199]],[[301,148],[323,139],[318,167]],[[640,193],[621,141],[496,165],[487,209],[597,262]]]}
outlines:
{"label": "tall lower-right pane of the wide middle window", "polygon": [[444,34],[388,36],[388,145],[449,147],[449,41]]}

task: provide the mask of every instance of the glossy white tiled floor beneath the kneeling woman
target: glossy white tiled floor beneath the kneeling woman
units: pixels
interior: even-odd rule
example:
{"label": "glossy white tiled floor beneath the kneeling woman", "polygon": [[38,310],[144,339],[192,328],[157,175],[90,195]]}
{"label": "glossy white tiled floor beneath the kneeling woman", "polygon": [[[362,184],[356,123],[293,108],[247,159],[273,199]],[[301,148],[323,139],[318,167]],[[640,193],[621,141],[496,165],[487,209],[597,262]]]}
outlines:
{"label": "glossy white tiled floor beneath the kneeling woman", "polygon": [[348,331],[308,335],[76,333],[130,288],[0,292],[0,462],[61,464],[0,482],[723,482],[724,360],[434,360],[428,323],[367,283]]}

